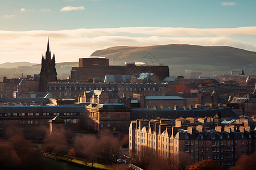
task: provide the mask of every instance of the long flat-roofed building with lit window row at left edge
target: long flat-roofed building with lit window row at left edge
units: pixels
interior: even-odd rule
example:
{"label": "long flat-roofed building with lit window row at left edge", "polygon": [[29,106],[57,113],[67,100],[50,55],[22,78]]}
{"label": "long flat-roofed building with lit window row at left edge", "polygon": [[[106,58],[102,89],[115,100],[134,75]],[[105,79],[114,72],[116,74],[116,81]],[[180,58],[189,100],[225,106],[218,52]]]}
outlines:
{"label": "long flat-roofed building with lit window row at left edge", "polygon": [[31,136],[40,126],[48,129],[55,116],[64,120],[65,129],[77,130],[78,119],[86,113],[84,106],[0,106],[0,135],[15,128]]}

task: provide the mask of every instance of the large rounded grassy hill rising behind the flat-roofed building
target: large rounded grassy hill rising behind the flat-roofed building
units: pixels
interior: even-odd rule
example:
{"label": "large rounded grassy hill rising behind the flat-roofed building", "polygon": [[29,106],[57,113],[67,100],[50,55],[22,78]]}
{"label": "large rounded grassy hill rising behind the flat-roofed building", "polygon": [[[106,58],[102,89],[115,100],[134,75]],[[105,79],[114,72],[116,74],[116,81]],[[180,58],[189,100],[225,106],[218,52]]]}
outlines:
{"label": "large rounded grassy hill rising behind the flat-roofed building", "polygon": [[114,65],[123,65],[126,61],[148,63],[145,56],[149,52],[151,61],[170,67],[170,75],[184,74],[184,70],[202,71],[203,75],[230,74],[242,69],[246,74],[255,74],[256,52],[231,46],[114,46],[97,50],[91,56],[113,58]]}

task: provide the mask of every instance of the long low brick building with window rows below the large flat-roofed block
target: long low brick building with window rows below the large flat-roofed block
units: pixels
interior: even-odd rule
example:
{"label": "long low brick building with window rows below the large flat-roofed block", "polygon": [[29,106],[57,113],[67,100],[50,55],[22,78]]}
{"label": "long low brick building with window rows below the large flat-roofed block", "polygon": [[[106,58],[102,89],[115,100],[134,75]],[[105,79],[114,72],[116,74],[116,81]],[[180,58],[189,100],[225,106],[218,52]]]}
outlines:
{"label": "long low brick building with window rows below the large flat-roofed block", "polygon": [[[48,92],[56,99],[79,99],[85,91],[113,91],[118,97],[133,97],[133,94],[145,96],[166,96],[167,86],[164,83],[80,83],[49,82]],[[88,101],[86,101],[88,102]]]}

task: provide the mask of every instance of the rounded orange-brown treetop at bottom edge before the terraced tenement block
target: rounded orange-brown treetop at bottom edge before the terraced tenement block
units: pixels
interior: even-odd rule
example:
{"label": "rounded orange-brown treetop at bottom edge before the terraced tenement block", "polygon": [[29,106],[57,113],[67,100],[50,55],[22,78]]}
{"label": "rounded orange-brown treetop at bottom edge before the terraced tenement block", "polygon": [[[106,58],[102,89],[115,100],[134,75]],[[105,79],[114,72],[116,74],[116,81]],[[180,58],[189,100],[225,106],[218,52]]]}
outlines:
{"label": "rounded orange-brown treetop at bottom edge before the terraced tenement block", "polygon": [[189,167],[189,170],[221,170],[221,166],[212,162],[212,160],[202,160]]}

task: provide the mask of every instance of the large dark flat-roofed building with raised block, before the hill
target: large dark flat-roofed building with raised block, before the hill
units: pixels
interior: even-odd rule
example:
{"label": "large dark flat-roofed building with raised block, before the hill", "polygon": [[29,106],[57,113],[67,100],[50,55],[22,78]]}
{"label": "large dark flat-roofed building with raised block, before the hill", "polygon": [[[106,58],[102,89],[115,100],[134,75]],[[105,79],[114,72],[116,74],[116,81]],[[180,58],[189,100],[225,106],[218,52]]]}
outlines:
{"label": "large dark flat-roofed building with raised block, before the hill", "polygon": [[[126,62],[122,66],[110,66],[109,58],[88,57],[79,58],[79,67],[72,67],[72,81],[87,81],[93,78],[104,79],[105,75],[133,75],[147,73],[150,71],[156,75],[158,80],[163,80],[169,76],[168,66],[155,65],[135,65],[134,62]],[[155,82],[157,82],[155,80]]]}

